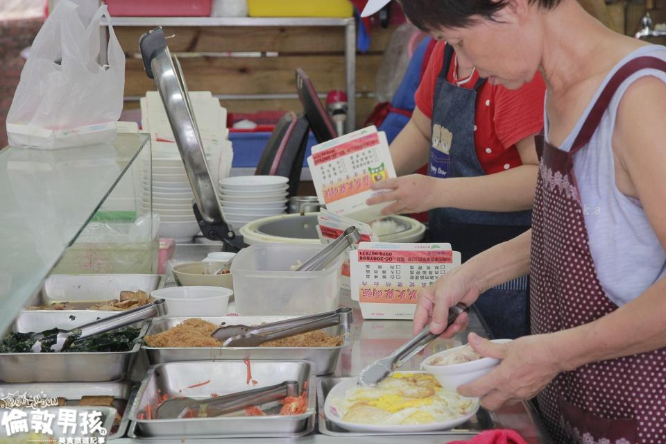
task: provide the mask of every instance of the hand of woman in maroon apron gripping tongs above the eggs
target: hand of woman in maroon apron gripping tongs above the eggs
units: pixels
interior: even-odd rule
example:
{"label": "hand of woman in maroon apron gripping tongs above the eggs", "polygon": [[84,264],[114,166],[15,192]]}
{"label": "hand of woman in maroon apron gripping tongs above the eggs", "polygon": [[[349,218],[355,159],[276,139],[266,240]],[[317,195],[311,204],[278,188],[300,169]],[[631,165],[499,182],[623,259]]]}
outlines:
{"label": "hand of woman in maroon apron gripping tongs above the eggs", "polygon": [[449,307],[458,302],[468,307],[479,297],[479,288],[470,275],[470,267],[461,265],[439,278],[430,287],[418,293],[416,311],[414,313],[414,334],[430,324],[434,334],[443,333],[444,338],[452,338],[457,332],[464,330],[470,322],[467,313],[461,313],[456,321],[444,331],[449,316]]}

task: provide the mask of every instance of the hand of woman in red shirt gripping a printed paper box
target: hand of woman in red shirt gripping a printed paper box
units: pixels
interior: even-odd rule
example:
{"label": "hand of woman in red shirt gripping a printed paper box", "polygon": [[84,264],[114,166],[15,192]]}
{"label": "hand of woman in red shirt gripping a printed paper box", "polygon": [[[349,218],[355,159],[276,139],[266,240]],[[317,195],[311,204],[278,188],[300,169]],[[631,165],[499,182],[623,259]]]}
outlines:
{"label": "hand of woman in red shirt gripping a printed paper box", "polygon": [[406,214],[420,213],[441,207],[436,202],[435,196],[438,179],[422,174],[409,174],[400,178],[379,180],[373,183],[372,189],[387,190],[367,200],[368,205],[377,203],[393,202],[382,209],[382,214]]}

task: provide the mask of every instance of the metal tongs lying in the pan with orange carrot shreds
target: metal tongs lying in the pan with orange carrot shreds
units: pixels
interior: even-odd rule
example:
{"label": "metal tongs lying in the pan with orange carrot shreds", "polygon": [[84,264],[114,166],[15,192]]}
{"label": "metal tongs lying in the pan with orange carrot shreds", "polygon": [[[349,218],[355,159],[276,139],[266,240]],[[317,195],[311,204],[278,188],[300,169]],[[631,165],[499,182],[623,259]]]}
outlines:
{"label": "metal tongs lying in the pan with orange carrot shreds", "polygon": [[261,405],[273,400],[279,400],[286,396],[293,396],[298,393],[298,382],[285,381],[273,386],[254,388],[253,390],[241,391],[239,393],[231,393],[230,395],[223,395],[217,398],[210,398],[194,404],[184,409],[178,418],[182,418],[187,414],[187,411],[198,409],[203,405],[208,407],[215,407],[219,415],[231,413],[240,409],[245,409],[253,405]]}

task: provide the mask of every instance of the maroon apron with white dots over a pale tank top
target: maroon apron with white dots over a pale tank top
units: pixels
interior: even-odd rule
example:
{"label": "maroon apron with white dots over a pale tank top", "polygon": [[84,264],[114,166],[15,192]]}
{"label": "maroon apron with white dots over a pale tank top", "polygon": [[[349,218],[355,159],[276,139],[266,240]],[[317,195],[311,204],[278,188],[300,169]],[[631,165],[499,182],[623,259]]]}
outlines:
{"label": "maroon apron with white dots over a pale tank top", "polygon": [[[574,154],[590,141],[620,84],[645,68],[666,72],[666,62],[640,57],[621,67],[570,152],[537,138],[541,162],[531,241],[533,334],[577,327],[617,309],[601,288],[588,247]],[[538,395],[538,404],[557,443],[666,443],[666,349],[561,373]]]}

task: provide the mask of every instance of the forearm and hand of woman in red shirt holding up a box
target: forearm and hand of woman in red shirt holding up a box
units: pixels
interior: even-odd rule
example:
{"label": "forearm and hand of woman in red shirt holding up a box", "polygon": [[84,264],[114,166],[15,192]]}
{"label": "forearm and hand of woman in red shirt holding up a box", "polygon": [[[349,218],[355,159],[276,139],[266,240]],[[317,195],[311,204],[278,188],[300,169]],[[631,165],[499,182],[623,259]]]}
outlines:
{"label": "forearm and hand of woman in red shirt holding up a box", "polygon": [[534,137],[522,139],[516,147],[522,160],[520,167],[470,178],[440,179],[411,174],[385,179],[375,182],[373,189],[391,191],[373,196],[368,205],[395,200],[384,208],[384,214],[418,213],[440,207],[493,212],[529,210],[538,172]]}

